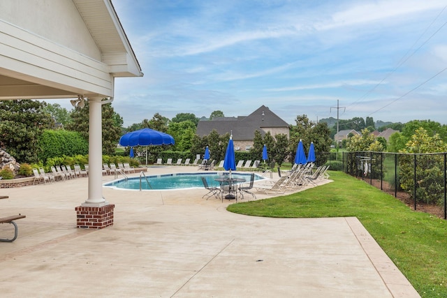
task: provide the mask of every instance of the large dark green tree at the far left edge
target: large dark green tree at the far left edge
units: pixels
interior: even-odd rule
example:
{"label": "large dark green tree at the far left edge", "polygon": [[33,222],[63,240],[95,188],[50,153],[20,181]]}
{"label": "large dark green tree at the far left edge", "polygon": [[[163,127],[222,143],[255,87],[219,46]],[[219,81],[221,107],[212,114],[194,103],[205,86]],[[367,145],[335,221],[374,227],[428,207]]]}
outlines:
{"label": "large dark green tree at the far left edge", "polygon": [[37,100],[0,101],[0,146],[19,163],[37,163],[38,138],[54,120]]}

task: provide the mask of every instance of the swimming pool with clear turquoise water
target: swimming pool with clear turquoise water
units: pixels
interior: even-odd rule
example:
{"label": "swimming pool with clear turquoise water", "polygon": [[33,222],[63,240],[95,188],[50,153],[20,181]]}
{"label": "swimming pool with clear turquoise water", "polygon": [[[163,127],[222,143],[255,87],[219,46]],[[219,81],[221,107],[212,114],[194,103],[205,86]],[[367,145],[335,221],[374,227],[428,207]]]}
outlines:
{"label": "swimming pool with clear turquoise water", "polygon": [[[150,175],[146,176],[147,183],[144,176],[141,177],[131,177],[129,179],[119,179],[115,181],[103,184],[104,187],[117,188],[125,190],[140,191],[140,181],[141,189],[145,191],[151,190],[173,190],[173,189],[185,189],[185,188],[203,188],[203,182],[201,177],[205,177],[209,185],[218,185],[219,182],[214,179],[221,178],[222,176],[228,176],[228,172],[208,172],[208,173],[176,173],[176,174],[161,174],[161,175]],[[235,173],[233,172],[231,176],[233,178],[242,178],[246,181],[250,181],[251,173]],[[255,180],[265,179],[259,174],[255,174]]]}

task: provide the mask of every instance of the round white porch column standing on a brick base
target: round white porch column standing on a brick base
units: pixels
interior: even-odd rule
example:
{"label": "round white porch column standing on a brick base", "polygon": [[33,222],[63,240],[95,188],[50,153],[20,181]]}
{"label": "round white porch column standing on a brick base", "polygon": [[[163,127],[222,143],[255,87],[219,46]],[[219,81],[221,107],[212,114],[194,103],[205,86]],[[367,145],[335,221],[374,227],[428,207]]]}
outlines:
{"label": "round white porch column standing on a brick base", "polygon": [[101,97],[89,97],[89,198],[82,206],[101,207],[103,198],[103,138]]}

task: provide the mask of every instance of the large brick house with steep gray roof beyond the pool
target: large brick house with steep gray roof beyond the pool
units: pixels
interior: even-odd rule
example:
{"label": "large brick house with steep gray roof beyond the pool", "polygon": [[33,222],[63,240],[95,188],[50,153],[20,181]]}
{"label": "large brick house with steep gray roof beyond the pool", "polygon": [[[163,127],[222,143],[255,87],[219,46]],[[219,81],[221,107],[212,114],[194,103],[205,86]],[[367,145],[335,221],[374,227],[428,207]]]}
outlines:
{"label": "large brick house with steep gray roof beyond the pool", "polygon": [[261,105],[248,116],[218,117],[212,120],[200,120],[197,126],[197,135],[203,137],[213,130],[219,135],[233,133],[233,142],[236,150],[248,151],[253,146],[254,132],[261,135],[270,132],[274,137],[284,134],[289,137],[289,125],[286,121],[274,114],[268,107]]}

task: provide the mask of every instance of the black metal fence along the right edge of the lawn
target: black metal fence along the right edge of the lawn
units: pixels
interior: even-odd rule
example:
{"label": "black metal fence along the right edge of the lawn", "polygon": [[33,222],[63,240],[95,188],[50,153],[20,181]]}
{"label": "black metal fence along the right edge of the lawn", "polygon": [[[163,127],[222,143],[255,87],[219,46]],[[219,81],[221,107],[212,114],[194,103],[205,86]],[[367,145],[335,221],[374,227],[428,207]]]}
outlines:
{"label": "black metal fence along the right edge of the lawn", "polygon": [[328,156],[330,162],[335,159],[342,162],[343,172],[404,200],[414,210],[430,209],[447,219],[447,152],[397,154],[359,151]]}

